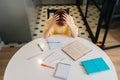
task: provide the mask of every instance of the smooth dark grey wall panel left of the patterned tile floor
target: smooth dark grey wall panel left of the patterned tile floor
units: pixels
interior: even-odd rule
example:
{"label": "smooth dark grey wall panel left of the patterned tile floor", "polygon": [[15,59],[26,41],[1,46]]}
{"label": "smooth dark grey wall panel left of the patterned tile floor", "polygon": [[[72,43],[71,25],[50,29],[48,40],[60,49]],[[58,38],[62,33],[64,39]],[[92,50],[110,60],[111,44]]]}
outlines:
{"label": "smooth dark grey wall panel left of the patterned tile floor", "polygon": [[31,40],[24,0],[0,0],[0,35],[5,43]]}

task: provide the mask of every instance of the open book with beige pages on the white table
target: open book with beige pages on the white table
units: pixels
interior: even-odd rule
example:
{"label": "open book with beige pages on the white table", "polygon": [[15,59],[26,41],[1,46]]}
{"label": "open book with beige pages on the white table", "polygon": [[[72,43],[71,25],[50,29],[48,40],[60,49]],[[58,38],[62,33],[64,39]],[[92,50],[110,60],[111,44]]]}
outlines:
{"label": "open book with beige pages on the white table", "polygon": [[62,48],[62,50],[69,55],[73,60],[77,60],[86,53],[90,52],[92,49],[87,47],[80,41],[74,41]]}

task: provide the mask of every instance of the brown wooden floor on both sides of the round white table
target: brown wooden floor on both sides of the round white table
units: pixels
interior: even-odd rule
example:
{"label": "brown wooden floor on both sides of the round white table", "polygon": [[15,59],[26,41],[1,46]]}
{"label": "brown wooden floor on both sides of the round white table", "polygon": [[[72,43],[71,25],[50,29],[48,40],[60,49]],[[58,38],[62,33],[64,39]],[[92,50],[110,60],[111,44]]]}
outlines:
{"label": "brown wooden floor on both sides of the round white table", "polygon": [[[19,48],[3,48],[0,51],[0,80],[3,80],[5,68],[11,57],[18,49]],[[108,54],[113,64],[115,65],[118,74],[118,80],[120,80],[120,48],[105,50],[105,52]]]}

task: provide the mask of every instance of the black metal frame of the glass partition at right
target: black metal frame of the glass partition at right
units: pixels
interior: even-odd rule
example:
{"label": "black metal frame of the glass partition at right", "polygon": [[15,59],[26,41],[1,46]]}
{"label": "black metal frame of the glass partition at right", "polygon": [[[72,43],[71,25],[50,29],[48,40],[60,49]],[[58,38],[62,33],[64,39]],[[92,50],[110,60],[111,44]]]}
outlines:
{"label": "black metal frame of the glass partition at right", "polygon": [[[112,22],[112,19],[115,17],[114,12],[115,12],[115,9],[116,9],[116,6],[117,6],[119,0],[102,0],[102,7],[99,7],[99,5],[96,4],[95,0],[87,0],[85,14],[83,14],[83,12],[82,12],[79,1],[80,0],[76,1],[76,5],[77,5],[77,8],[78,8],[82,18],[83,18],[83,21],[84,21],[85,25],[87,27],[87,30],[90,34],[91,40],[95,44],[97,44],[97,45],[99,44],[98,46],[103,49],[105,47],[104,43],[105,43],[105,40],[106,40],[106,37],[107,37],[109,26]],[[98,8],[98,10],[100,11],[100,17],[99,17],[99,21],[98,21],[98,25],[97,25],[95,35],[93,35],[93,32],[90,28],[90,25],[88,24],[87,19],[86,19],[88,8],[89,8],[88,4],[90,4],[90,1],[92,1],[94,3],[94,5]],[[119,15],[117,15],[117,16],[119,16]],[[103,27],[103,25],[105,26],[104,27],[105,28],[105,33],[104,33],[104,36],[102,38],[102,41],[99,42],[98,38],[99,38],[99,35],[100,35],[100,30]],[[116,46],[111,46],[111,47],[108,47],[108,48],[119,47],[119,46],[120,45],[116,45]],[[108,48],[105,48],[105,49],[108,49]]]}

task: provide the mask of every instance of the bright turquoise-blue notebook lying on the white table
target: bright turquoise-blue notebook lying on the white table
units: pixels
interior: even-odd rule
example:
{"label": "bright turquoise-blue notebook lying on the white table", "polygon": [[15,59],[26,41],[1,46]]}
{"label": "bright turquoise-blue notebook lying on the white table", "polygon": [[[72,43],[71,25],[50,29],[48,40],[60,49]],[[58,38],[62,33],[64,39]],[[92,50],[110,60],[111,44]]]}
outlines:
{"label": "bright turquoise-blue notebook lying on the white table", "polygon": [[82,65],[85,68],[87,74],[109,70],[109,66],[102,58],[95,58],[82,61]]}

